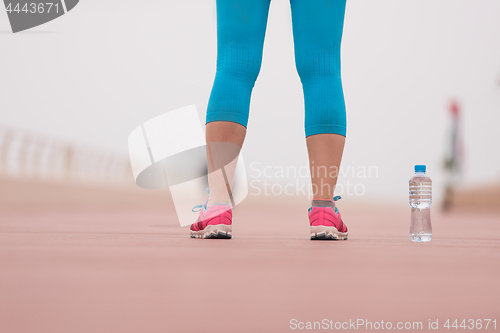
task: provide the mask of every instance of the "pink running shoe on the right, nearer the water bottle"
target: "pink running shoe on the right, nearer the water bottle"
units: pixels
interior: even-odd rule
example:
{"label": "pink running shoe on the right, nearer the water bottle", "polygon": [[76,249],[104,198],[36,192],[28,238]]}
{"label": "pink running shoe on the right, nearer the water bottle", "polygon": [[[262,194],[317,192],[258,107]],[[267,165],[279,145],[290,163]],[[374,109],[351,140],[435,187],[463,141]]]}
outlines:
{"label": "pink running shoe on the right, nearer the water bottle", "polygon": [[[333,198],[334,201],[340,196]],[[309,224],[311,225],[312,240],[345,240],[347,239],[347,226],[342,221],[340,213],[335,207],[311,207]]]}

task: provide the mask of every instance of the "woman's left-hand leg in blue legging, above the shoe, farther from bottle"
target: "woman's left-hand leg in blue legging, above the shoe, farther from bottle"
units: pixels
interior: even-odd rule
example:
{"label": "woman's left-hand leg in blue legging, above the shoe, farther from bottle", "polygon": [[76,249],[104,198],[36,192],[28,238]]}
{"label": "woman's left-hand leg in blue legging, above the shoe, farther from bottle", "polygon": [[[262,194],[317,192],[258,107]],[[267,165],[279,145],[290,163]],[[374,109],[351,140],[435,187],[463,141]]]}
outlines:
{"label": "woman's left-hand leg in blue legging, above the shoe, farther from bottle", "polygon": [[[245,139],[269,5],[270,0],[217,0],[217,73],[206,117],[208,205],[230,200],[236,164],[226,162],[237,158]],[[223,173],[213,172],[221,166]]]}

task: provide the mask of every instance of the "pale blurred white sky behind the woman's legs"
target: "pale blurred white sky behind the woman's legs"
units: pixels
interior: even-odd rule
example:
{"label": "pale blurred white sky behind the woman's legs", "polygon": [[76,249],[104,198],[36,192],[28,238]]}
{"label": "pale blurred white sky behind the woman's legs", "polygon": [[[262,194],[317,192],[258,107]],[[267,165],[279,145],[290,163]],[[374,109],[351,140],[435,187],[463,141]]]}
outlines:
{"label": "pale blurred white sky behind the woman's legs", "polygon": [[[463,111],[463,185],[500,181],[498,13],[496,0],[348,1],[343,167],[375,166],[378,177],[339,184],[406,204],[413,165],[427,164],[439,201],[452,98]],[[289,0],[272,0],[243,149],[250,177],[254,162],[307,165],[291,24]],[[196,104],[204,119],[215,76],[215,0],[81,0],[18,34],[0,10],[0,45],[0,123],[127,154],[128,134],[150,118]]]}

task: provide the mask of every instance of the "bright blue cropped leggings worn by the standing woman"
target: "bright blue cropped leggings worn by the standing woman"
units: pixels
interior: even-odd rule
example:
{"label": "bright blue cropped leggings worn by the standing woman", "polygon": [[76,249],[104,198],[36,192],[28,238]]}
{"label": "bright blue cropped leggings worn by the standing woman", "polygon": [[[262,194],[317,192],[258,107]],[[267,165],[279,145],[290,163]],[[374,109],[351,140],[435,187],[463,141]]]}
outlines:
{"label": "bright blue cropped leggings worn by the standing woman", "polygon": [[[217,73],[206,123],[247,126],[260,72],[271,0],[217,0]],[[290,0],[295,65],[302,82],[306,137],[346,135],[340,44],[346,0]]]}

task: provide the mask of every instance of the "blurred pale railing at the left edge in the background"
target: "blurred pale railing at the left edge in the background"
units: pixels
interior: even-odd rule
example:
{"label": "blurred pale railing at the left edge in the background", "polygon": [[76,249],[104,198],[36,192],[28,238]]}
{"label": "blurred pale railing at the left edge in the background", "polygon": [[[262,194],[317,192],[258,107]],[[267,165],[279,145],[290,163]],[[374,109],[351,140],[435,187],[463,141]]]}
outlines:
{"label": "blurred pale railing at the left edge in the background", "polygon": [[133,184],[127,156],[0,125],[0,176],[95,185]]}

